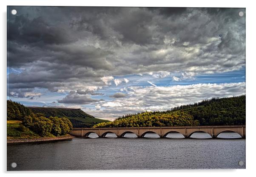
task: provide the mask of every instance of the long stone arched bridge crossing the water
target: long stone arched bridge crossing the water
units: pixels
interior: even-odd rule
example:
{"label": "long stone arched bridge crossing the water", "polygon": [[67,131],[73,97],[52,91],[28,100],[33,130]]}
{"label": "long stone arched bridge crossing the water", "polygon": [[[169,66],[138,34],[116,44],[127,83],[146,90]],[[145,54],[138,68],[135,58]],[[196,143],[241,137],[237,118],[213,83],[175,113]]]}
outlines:
{"label": "long stone arched bridge crossing the water", "polygon": [[185,138],[189,138],[194,132],[206,132],[212,138],[216,138],[222,132],[236,132],[242,138],[245,138],[245,125],[74,128],[70,134],[88,138],[90,133],[96,133],[99,137],[105,137],[108,133],[114,133],[117,137],[122,138],[125,133],[134,133],[138,138],[143,138],[146,133],[152,132],[161,138],[165,138],[171,132],[181,133]]}

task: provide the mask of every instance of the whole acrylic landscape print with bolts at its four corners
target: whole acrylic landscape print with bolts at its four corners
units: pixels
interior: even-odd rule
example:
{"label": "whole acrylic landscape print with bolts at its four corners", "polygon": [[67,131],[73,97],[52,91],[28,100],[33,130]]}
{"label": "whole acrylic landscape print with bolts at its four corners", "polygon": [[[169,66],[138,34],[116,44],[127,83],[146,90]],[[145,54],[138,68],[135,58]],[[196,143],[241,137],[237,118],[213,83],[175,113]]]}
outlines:
{"label": "whole acrylic landscape print with bolts at its four corners", "polygon": [[245,14],[7,6],[7,170],[245,169]]}

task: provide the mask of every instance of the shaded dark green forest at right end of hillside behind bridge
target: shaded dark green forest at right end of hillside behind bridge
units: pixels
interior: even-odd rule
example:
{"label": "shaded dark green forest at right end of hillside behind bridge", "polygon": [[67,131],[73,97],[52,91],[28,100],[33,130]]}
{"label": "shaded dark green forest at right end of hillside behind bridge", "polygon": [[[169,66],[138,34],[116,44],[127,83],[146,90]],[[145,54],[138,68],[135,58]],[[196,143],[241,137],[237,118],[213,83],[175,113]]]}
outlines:
{"label": "shaded dark green forest at right end of hillside behind bridge", "polygon": [[212,98],[179,109],[199,120],[200,125],[245,125],[245,99],[245,95]]}

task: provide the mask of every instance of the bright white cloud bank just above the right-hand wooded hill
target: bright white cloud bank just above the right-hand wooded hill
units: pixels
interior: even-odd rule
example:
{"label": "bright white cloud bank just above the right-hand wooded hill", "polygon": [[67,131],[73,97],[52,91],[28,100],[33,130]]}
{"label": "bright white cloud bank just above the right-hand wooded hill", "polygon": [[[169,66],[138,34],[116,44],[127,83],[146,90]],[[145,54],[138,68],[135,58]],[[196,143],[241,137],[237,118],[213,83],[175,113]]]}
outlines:
{"label": "bright white cloud bank just above the right-hand wooded hill", "polygon": [[[171,87],[128,87],[129,97],[102,101],[105,107],[94,112],[99,118],[113,118],[145,110],[164,111],[213,97],[232,97],[245,94],[245,82],[224,84],[191,84]],[[118,108],[118,109],[117,109]],[[91,112],[94,115],[93,111]]]}

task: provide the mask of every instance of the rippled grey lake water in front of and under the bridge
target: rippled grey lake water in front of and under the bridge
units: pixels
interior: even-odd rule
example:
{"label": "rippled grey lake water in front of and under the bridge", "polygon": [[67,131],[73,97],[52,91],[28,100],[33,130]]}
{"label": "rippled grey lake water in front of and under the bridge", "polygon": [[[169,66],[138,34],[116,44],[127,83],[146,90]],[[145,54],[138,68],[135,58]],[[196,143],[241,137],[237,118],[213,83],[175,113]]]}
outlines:
{"label": "rippled grey lake water in front of and under the bridge", "polygon": [[[209,135],[210,136],[210,135]],[[236,133],[209,138],[194,133],[186,139],[177,133],[168,138],[75,138],[51,143],[7,146],[7,170],[114,170],[114,169],[245,169],[245,139]],[[204,139],[194,139],[204,138]],[[239,161],[243,161],[242,166]],[[16,168],[11,163],[17,163]]]}

